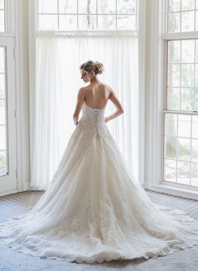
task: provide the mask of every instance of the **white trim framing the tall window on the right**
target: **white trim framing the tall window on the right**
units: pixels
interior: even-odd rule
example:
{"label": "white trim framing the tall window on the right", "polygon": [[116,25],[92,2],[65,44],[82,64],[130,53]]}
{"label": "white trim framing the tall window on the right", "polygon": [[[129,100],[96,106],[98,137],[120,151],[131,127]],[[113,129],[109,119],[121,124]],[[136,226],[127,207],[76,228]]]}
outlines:
{"label": "white trim framing the tall window on the right", "polygon": [[165,44],[166,40],[173,36],[177,38],[190,38],[194,37],[197,32],[180,32],[162,35],[162,29],[165,30],[166,22],[166,18],[163,17],[163,14],[165,13],[163,12],[166,11],[167,1],[164,0],[162,5],[162,2],[158,0],[151,0],[151,5],[151,83],[149,86],[150,115],[149,123],[146,123],[146,136],[148,137],[146,151],[149,152],[149,154],[146,156],[145,176],[147,177],[147,180],[144,187],[157,192],[198,200],[198,188],[196,187],[187,187],[182,184],[174,183],[161,183],[163,148],[162,111],[164,109],[163,101],[165,100],[165,91],[163,91],[165,86],[165,76],[163,75],[166,70],[164,67],[164,63],[166,63]]}

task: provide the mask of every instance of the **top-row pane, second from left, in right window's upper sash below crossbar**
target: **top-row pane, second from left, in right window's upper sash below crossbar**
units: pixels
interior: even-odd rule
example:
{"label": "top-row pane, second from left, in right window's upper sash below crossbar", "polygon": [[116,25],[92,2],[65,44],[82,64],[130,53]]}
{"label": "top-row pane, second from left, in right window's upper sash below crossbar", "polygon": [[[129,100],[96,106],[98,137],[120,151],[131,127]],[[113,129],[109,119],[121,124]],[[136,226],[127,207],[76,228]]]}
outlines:
{"label": "top-row pane, second from left, in right window's upper sash below crossbar", "polygon": [[194,40],[182,41],[182,62],[194,63]]}

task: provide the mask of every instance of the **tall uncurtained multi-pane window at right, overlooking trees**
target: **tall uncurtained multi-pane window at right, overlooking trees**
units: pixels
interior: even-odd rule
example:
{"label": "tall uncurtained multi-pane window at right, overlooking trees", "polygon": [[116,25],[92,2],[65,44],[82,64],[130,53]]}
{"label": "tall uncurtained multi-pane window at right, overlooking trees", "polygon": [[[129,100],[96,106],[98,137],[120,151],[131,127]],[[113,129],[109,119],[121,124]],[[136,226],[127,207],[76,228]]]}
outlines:
{"label": "tall uncurtained multi-pane window at right, overlooking trees", "polygon": [[198,1],[167,6],[163,182],[198,187]]}

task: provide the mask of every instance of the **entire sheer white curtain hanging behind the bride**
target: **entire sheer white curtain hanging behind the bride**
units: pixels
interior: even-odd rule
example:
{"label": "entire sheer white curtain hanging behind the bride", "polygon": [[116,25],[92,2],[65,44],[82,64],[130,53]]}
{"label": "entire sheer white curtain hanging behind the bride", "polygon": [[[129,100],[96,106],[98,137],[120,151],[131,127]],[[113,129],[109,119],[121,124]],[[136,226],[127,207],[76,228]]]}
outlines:
{"label": "entire sheer white curtain hanging behind the bride", "polygon": [[[98,78],[113,88],[125,109],[122,116],[110,121],[107,126],[124,154],[129,168],[137,177],[137,35],[131,31],[120,30],[75,31],[67,34],[57,32],[56,35],[54,32],[48,31],[47,35],[44,32],[39,32],[37,37],[36,104],[39,108],[36,111],[41,114],[39,115],[38,112],[36,114],[38,116],[35,125],[36,150],[34,150],[31,187],[39,190],[47,188],[58,163],[59,154],[66,148],[70,135],[75,129],[72,115],[76,96],[78,89],[85,86],[80,79],[79,65],[88,59],[104,63],[105,72]],[[52,78],[49,78],[51,76]],[[49,86],[51,81],[53,86]],[[50,103],[49,99],[48,102],[38,102],[46,91],[50,92],[50,97],[55,95],[54,103]],[[53,105],[57,104],[59,112],[56,113],[57,108]],[[114,105],[108,102],[106,116],[115,110]],[[48,112],[45,114],[46,126],[50,126],[48,129],[44,129],[41,125],[42,114],[46,111]],[[58,114],[61,115],[60,118],[57,118]],[[54,122],[51,121],[51,117],[54,118]],[[52,131],[53,135],[50,134]],[[53,136],[55,142],[51,140]],[[42,145],[40,140],[46,145],[46,148],[41,148],[44,168],[40,166],[38,159],[38,154],[41,154],[40,145]]]}

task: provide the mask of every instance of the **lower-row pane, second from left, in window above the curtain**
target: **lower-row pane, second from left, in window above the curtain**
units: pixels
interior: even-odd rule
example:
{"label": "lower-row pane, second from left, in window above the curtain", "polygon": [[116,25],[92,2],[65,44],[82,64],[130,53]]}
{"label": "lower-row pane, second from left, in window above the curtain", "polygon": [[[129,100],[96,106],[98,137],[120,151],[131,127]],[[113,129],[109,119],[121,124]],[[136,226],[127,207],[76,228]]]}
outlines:
{"label": "lower-row pane, second from left, in window above the curtain", "polygon": [[59,15],[59,30],[76,30],[77,15]]}

